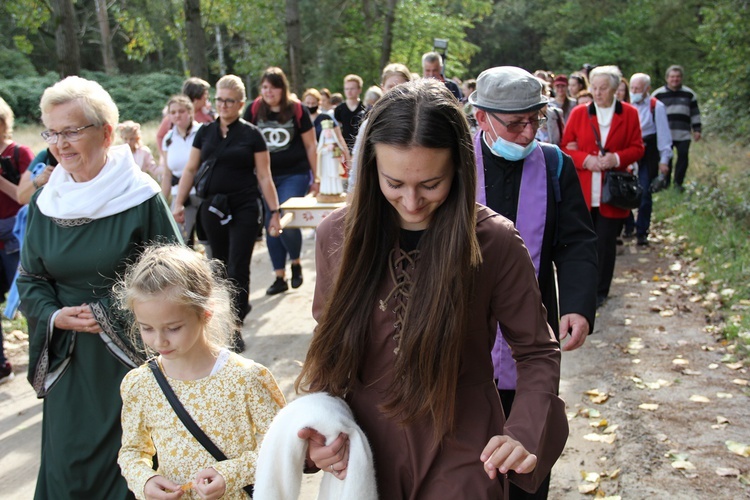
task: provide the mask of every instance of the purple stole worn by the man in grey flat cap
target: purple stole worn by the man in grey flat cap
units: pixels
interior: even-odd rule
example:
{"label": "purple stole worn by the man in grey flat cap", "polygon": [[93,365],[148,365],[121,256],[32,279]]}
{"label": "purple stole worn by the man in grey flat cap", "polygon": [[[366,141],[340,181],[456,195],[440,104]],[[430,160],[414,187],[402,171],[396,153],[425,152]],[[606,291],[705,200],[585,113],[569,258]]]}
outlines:
{"label": "purple stole worn by the man in grey flat cap", "polygon": [[[484,181],[484,160],[482,157],[482,131],[474,137],[474,152],[477,158],[477,203],[487,204],[487,192]],[[542,147],[537,146],[523,162],[521,188],[518,193],[518,211],[516,229],[521,234],[531,261],[534,263],[536,277],[539,278],[539,261],[542,254],[544,226],[547,222],[547,166]],[[497,327],[495,346],[492,348],[492,364],[495,367],[495,378],[499,389],[515,390],[516,362],[511,355],[505,337]]]}

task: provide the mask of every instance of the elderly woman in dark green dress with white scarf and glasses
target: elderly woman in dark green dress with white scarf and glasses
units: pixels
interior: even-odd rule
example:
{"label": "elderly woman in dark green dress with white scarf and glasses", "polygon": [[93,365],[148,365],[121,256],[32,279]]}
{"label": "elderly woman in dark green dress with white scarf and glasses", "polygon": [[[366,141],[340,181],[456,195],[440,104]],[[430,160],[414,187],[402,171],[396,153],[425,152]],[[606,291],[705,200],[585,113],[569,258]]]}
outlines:
{"label": "elderly woman in dark green dress with white scarf and glasses", "polygon": [[118,110],[98,83],[68,77],[40,107],[62,168],[31,199],[18,278],[29,382],[44,398],[35,498],[128,498],[119,387],[143,360],[111,287],[140,249],[179,230],[129,146],[111,147]]}

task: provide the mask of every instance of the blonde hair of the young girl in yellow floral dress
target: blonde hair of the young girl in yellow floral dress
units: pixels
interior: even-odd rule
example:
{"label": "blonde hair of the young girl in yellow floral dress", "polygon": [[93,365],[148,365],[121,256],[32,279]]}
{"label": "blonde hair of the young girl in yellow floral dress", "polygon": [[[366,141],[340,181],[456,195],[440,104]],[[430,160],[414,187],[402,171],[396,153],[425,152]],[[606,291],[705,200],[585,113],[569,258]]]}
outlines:
{"label": "blonde hair of the young girl in yellow floral dress", "polygon": [[[223,265],[209,260],[184,245],[155,245],[146,248],[114,287],[120,308],[133,311],[136,302],[165,294],[192,310],[203,322],[203,335],[214,353],[226,347],[235,328],[231,285],[220,276]],[[138,324],[131,335],[138,337]],[[136,343],[137,345],[138,343]]]}

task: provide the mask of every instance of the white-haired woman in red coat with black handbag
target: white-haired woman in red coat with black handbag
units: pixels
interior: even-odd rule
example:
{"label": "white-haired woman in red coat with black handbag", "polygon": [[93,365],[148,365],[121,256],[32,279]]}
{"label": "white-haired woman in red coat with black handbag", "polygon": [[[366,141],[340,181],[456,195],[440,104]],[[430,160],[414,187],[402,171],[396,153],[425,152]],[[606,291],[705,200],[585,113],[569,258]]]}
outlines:
{"label": "white-haired woman in red coat with black handbag", "polygon": [[576,165],[583,196],[599,237],[597,307],[609,295],[615,269],[617,234],[629,211],[601,202],[604,172],[627,170],[643,156],[638,111],[615,99],[622,77],[616,66],[599,66],[589,74],[594,102],[577,106],[565,126],[562,143]]}

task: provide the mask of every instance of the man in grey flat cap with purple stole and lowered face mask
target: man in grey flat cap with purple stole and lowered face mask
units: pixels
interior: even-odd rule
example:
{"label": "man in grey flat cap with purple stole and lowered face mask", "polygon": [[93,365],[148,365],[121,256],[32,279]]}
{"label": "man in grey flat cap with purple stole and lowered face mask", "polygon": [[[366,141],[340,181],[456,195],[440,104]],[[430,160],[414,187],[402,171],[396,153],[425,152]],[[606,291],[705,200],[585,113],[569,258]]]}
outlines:
{"label": "man in grey flat cap with purple stole and lowered face mask", "polygon": [[[477,78],[469,103],[480,129],[474,137],[477,201],[516,225],[537,271],[547,321],[558,339],[568,339],[564,351],[577,349],[594,327],[596,233],[573,161],[534,139],[548,103],[542,85],[521,68],[491,68]],[[509,415],[516,367],[502,335],[492,360]],[[549,477],[535,493],[511,484],[510,498],[543,499],[548,491]]]}

